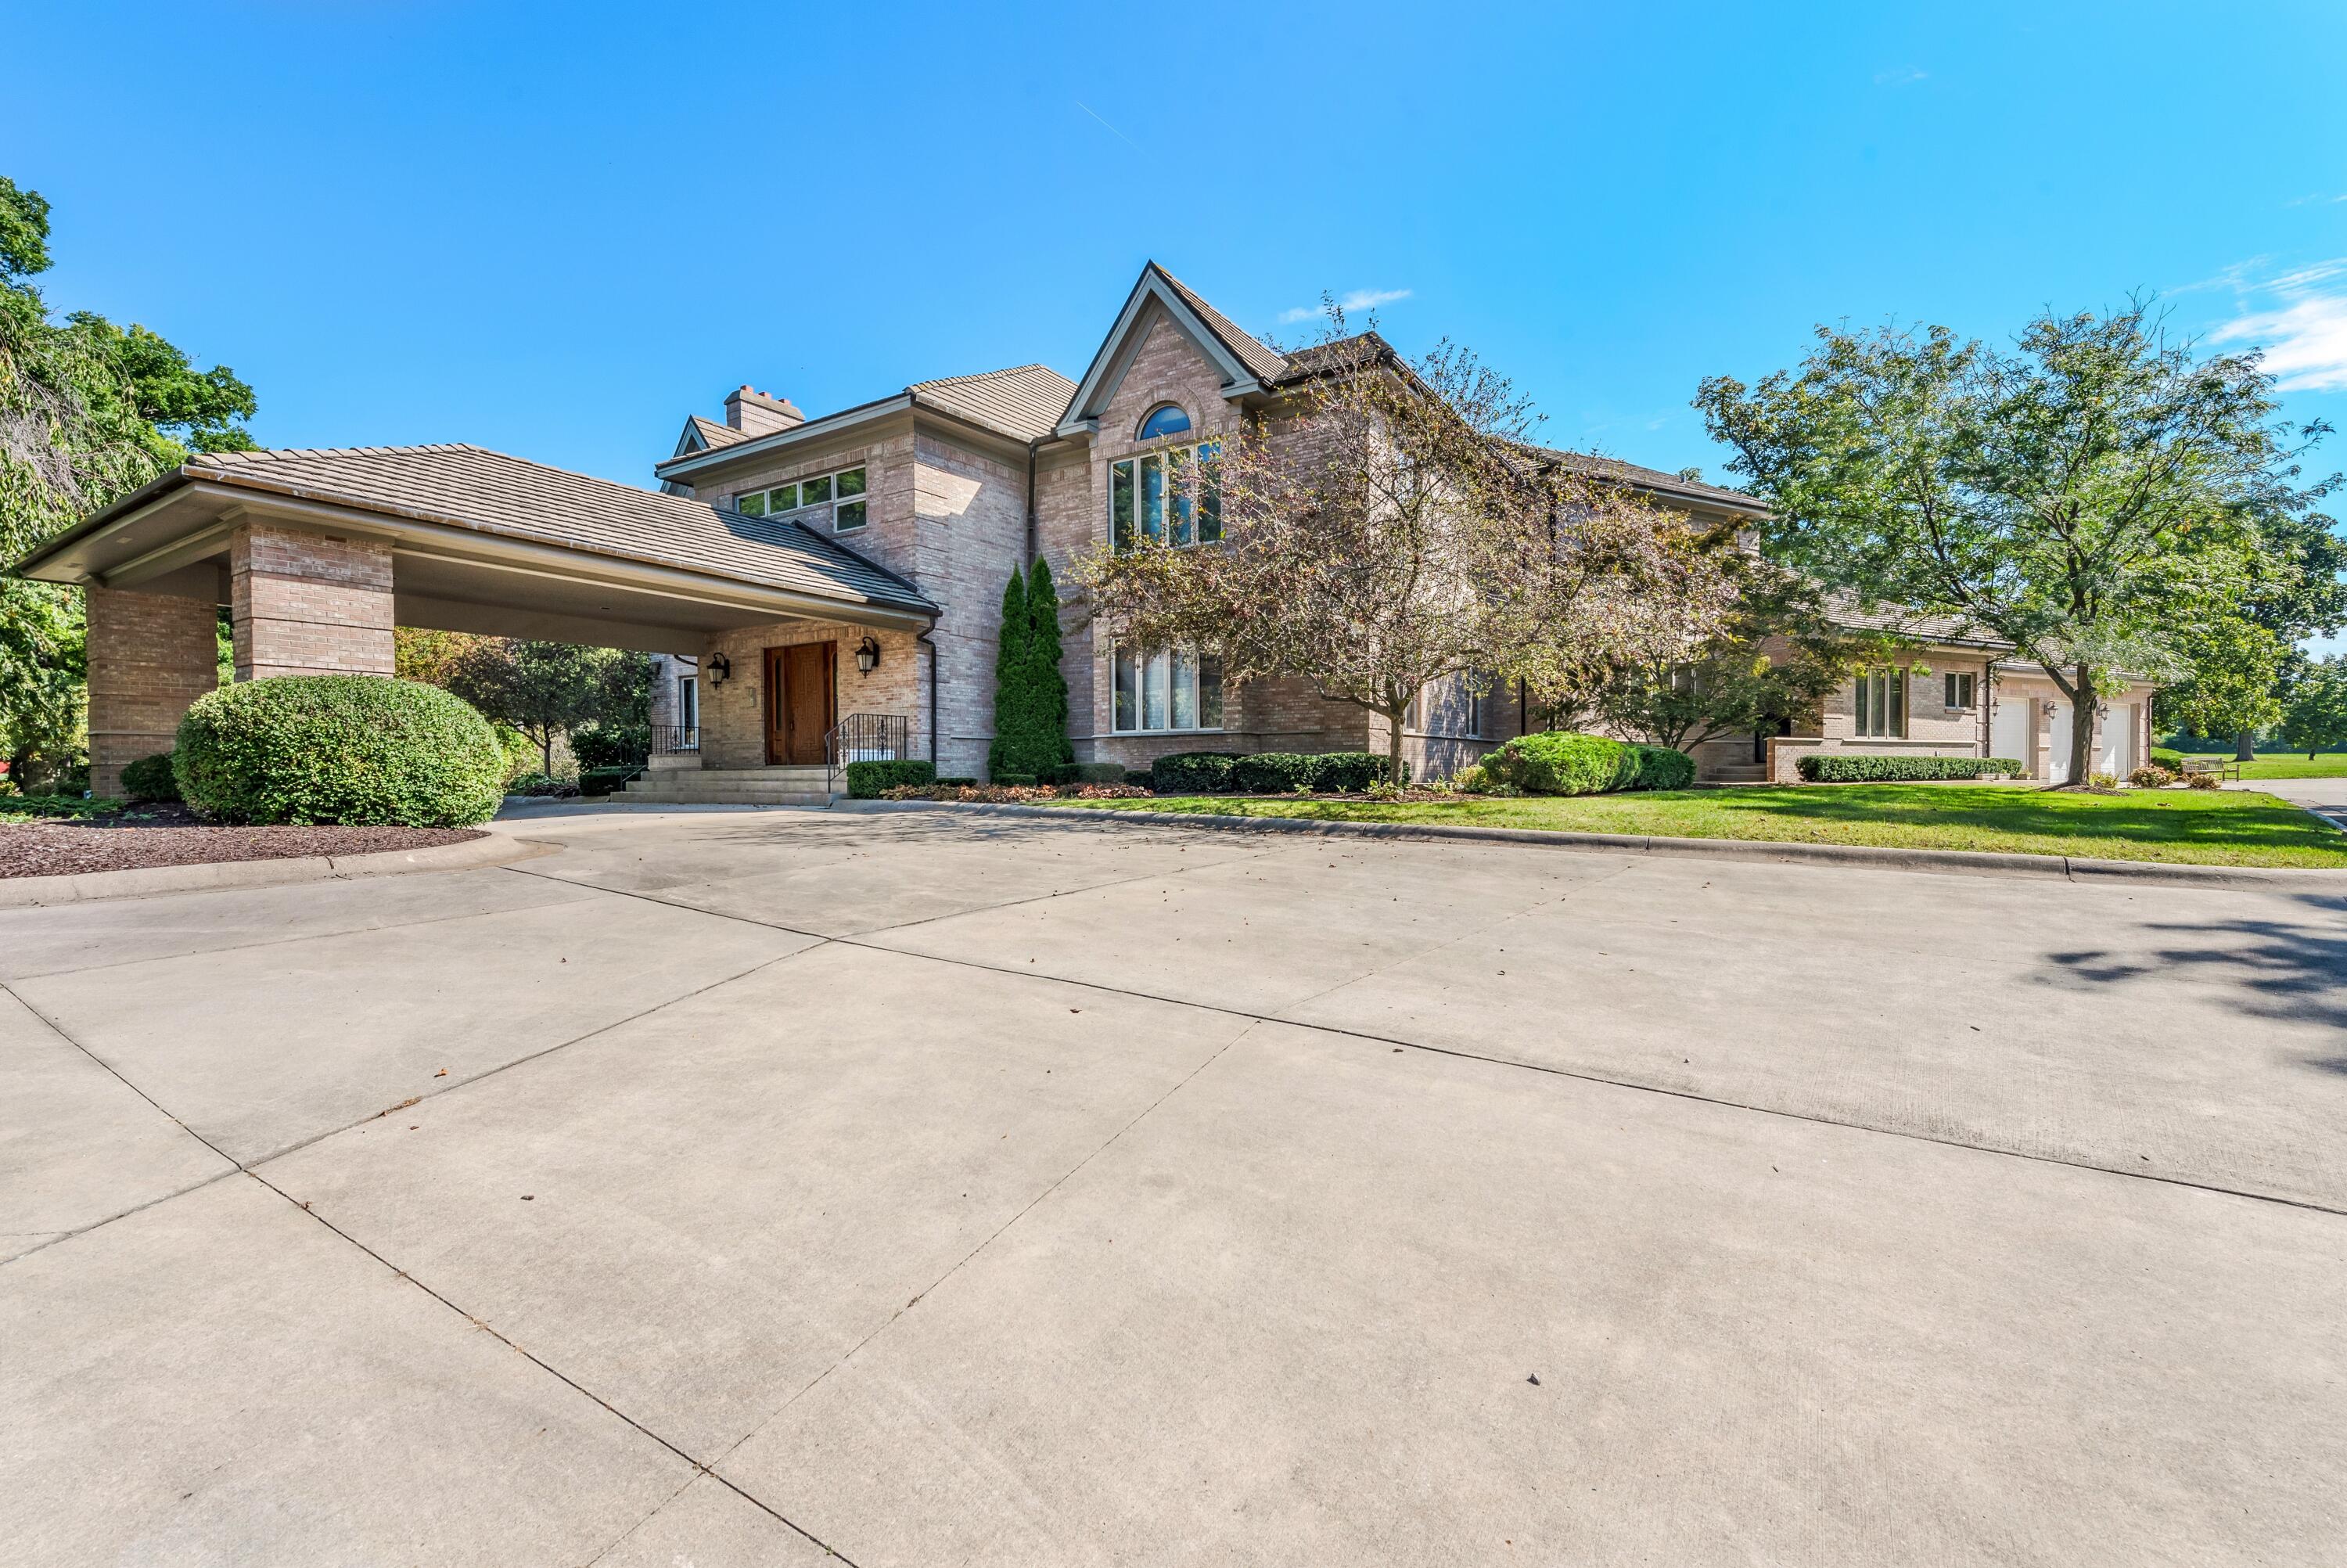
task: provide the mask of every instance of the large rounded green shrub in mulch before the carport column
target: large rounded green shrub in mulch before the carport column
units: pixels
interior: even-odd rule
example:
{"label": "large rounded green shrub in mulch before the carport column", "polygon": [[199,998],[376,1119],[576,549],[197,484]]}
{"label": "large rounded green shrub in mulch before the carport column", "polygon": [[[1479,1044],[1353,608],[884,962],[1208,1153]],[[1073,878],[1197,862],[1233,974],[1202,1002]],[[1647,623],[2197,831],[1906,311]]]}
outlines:
{"label": "large rounded green shrub in mulch before the carport column", "polygon": [[498,812],[505,751],[467,702],[390,676],[270,676],[204,692],[171,770],[214,822],[467,826]]}

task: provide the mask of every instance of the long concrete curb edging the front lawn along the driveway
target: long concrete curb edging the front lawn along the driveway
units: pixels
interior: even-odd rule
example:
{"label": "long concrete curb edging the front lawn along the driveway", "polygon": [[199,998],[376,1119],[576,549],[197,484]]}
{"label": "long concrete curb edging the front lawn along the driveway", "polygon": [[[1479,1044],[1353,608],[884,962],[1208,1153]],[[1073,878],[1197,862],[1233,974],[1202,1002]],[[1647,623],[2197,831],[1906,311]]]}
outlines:
{"label": "long concrete curb edging the front lawn along the driveway", "polygon": [[1218,817],[1209,812],[1143,812],[1073,805],[993,805],[983,800],[836,800],[831,810],[946,810],[997,817],[1143,822],[1150,826],[1223,829],[1237,833],[1310,833],[1321,838],[1404,838],[1432,843],[1502,843],[1535,850],[1685,854],[1695,859],[1777,861],[1800,866],[1864,866],[1873,871],[1936,871],[1955,876],[2035,876],[2072,883],[2166,883],[2185,887],[2291,887],[2347,894],[2347,871],[2321,866],[2185,866],[2152,859],[2089,859],[2079,854],[2011,854],[2000,850],[1892,850],[1882,845],[1812,845],[1770,838],[1664,838],[1648,833],[1565,833],[1549,829],[1439,826],[1422,822],[1317,822],[1312,817]]}

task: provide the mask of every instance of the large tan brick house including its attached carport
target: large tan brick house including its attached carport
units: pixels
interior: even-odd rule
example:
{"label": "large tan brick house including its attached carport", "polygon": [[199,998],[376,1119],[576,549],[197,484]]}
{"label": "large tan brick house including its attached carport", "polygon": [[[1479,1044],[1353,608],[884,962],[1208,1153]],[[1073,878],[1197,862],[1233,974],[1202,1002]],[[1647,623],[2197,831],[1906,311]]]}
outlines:
{"label": "large tan brick house including its attached carport", "polygon": [[[19,570],[89,589],[92,786],[171,746],[216,681],[392,674],[392,627],[535,636],[662,657],[655,775],[638,793],[821,798],[854,756],[983,775],[1002,587],[1066,573],[1103,540],[1211,547],[1218,441],[1293,404],[1303,371],[1155,263],[1080,380],[1040,364],[925,380],[805,418],[742,387],[690,418],[657,491],[476,446],[202,455]],[[1584,462],[1704,526],[1758,502]],[[1807,751],[2011,756],[2058,777],[2068,714],[2042,671],[1955,627],[1861,671],[1784,735],[1716,739],[1706,777],[1791,779]],[[1070,608],[1068,739],[1080,761],[1176,751],[1382,751],[1382,721],[1310,681],[1225,688],[1211,650],[1129,648]],[[2148,753],[2148,688],[2105,707],[2096,758]],[[1422,692],[1404,721],[1420,777],[1526,730],[1521,692]]]}

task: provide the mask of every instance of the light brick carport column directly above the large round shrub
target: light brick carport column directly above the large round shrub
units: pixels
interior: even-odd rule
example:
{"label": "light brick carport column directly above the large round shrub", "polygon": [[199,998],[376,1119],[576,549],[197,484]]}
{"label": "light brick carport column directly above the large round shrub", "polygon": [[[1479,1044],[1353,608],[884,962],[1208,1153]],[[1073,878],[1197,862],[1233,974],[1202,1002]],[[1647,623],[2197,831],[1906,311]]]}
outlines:
{"label": "light brick carport column directly above the large round shrub", "polygon": [[392,547],[244,523],[228,545],[237,681],[392,674]]}

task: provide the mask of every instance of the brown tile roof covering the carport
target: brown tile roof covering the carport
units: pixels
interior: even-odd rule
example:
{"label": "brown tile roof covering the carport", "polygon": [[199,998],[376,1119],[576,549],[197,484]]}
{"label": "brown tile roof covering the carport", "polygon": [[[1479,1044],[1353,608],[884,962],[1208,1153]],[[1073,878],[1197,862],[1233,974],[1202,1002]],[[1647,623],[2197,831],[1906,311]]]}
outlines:
{"label": "brown tile roof covering the carport", "polygon": [[739,516],[481,446],[204,453],[181,472],[840,603],[936,608],[897,573],[789,519]]}

